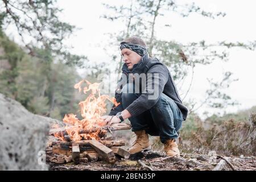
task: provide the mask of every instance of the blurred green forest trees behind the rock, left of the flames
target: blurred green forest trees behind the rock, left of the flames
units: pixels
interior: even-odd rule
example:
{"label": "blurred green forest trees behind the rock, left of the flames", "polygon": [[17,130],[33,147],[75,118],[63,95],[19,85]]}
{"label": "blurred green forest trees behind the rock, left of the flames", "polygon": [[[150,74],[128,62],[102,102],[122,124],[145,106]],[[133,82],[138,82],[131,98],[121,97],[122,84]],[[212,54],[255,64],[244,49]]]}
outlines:
{"label": "blurred green forest trees behind the rock, left of the flames", "polygon": [[42,49],[36,49],[39,57],[27,55],[5,35],[0,41],[5,65],[0,70],[1,93],[35,114],[61,119],[66,113],[77,113],[80,97],[73,85],[81,78],[75,67],[53,63],[51,54]]}

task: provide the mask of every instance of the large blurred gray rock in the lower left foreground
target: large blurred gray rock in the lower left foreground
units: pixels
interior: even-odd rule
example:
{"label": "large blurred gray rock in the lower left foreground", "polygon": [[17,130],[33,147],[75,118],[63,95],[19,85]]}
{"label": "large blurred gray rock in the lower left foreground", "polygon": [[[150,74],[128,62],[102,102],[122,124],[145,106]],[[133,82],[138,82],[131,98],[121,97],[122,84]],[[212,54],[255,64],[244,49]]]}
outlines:
{"label": "large blurred gray rock in the lower left foreground", "polygon": [[0,171],[47,170],[48,132],[49,122],[44,117],[0,93]]}

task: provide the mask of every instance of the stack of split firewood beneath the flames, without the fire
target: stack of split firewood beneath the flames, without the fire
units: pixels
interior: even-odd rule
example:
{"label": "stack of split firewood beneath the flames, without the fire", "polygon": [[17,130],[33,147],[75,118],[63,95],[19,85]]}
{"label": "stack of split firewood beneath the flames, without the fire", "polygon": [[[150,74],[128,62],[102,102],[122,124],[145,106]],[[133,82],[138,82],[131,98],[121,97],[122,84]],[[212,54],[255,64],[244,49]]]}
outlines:
{"label": "stack of split firewood beneath the flames, without the fire", "polygon": [[[118,123],[112,126],[105,126],[97,131],[101,140],[76,140],[72,141],[66,131],[66,128],[51,129],[49,134],[54,136],[55,134],[63,135],[64,141],[49,142],[48,147],[51,148],[53,154],[63,156],[65,162],[73,161],[75,164],[80,162],[94,162],[98,159],[105,160],[109,163],[115,162],[115,155],[119,155],[123,158],[129,158],[130,154],[127,150],[122,148],[125,146],[124,140],[113,140],[111,137],[106,138],[108,132],[116,130],[128,130],[131,126],[126,123]],[[92,133],[94,130],[80,130],[79,133]],[[58,161],[56,159],[56,161]]]}

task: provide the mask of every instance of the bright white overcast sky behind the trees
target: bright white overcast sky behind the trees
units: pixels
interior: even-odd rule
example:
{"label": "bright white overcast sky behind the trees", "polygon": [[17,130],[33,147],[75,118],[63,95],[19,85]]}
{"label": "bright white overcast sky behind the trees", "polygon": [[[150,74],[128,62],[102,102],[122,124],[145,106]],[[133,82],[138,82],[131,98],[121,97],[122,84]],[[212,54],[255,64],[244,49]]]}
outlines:
{"label": "bright white overcast sky behind the trees", "polygon": [[[102,48],[102,44],[108,44],[108,32],[122,30],[121,23],[113,23],[100,18],[107,12],[101,3],[123,3],[124,1],[59,1],[59,6],[64,9],[61,19],[69,22],[81,30],[76,31],[75,35],[67,40],[67,44],[73,46],[73,53],[86,55],[92,61],[108,60],[109,57]],[[193,14],[188,18],[179,15],[164,16],[156,24],[156,36],[161,39],[175,40],[180,43],[198,42],[206,40],[209,43],[226,41],[254,41],[256,40],[256,1],[254,0],[195,0],[177,1],[195,2],[196,5],[208,11],[224,11],[224,18],[210,19]],[[163,24],[171,24],[171,28],[163,28]],[[118,50],[117,47],[113,47]],[[204,100],[205,90],[208,89],[206,78],[220,80],[222,73],[230,71],[234,73],[234,78],[239,80],[233,82],[226,93],[230,94],[234,100],[241,105],[229,107],[225,110],[237,111],[247,109],[256,105],[256,51],[249,51],[241,48],[230,49],[228,63],[216,61],[208,66],[196,67],[191,91],[188,98],[196,98],[197,101]],[[189,79],[185,81],[189,84]],[[188,85],[187,85],[188,88]],[[186,89],[185,89],[186,90]],[[204,108],[200,110],[200,115]],[[210,113],[214,110],[208,109]],[[223,111],[223,110],[222,110]]]}

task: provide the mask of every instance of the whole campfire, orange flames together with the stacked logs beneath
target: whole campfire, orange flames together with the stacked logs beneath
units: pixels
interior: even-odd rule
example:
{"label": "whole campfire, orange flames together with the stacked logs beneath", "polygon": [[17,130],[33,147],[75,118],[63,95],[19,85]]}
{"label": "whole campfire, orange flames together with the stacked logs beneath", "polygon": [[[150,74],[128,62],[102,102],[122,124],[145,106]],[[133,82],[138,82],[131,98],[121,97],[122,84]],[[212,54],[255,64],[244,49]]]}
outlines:
{"label": "whole campfire, orange flames together with the stacked logs beneath", "polygon": [[[86,86],[83,86],[86,84]],[[50,129],[49,134],[57,139],[51,142],[52,152],[59,155],[64,155],[66,162],[73,160],[76,164],[80,161],[95,161],[98,158],[115,162],[115,155],[124,158],[129,157],[129,152],[121,148],[125,145],[123,140],[112,140],[112,137],[106,137],[108,133],[115,130],[128,130],[130,125],[126,123],[118,123],[111,126],[101,119],[101,116],[106,113],[106,101],[110,101],[114,106],[119,103],[115,98],[101,95],[100,84],[90,83],[87,80],[82,80],[75,84],[74,88],[79,92],[88,94],[84,101],[79,102],[81,117],[76,117],[75,114],[65,114],[63,122],[65,127],[54,126]]]}

